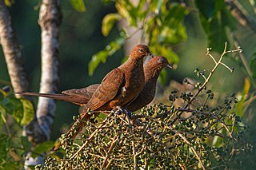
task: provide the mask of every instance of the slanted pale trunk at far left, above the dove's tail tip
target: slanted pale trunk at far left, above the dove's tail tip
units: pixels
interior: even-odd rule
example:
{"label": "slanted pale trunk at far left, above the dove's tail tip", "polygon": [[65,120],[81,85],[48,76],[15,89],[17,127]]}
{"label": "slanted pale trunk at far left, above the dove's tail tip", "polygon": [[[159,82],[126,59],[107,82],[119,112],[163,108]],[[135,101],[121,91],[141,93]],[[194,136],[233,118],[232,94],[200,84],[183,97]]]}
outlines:
{"label": "slanted pale trunk at far left, above the dove's tail tip", "polygon": [[4,0],[0,0],[0,43],[6,58],[14,92],[24,92],[28,89],[28,81],[22,62],[22,50],[18,45],[10,14]]}

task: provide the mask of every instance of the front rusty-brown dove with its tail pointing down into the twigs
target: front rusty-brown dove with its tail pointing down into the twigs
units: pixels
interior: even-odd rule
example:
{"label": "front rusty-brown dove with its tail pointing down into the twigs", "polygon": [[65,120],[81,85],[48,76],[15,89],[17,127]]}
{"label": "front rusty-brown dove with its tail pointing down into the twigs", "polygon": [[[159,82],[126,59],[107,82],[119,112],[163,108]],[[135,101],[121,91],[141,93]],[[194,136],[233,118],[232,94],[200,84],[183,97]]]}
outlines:
{"label": "front rusty-brown dove with its tail pointing down into the twigs", "polygon": [[[89,115],[88,109],[92,112],[110,111],[118,106],[125,107],[129,105],[130,101],[138,96],[145,83],[143,58],[149,55],[151,56],[150,49],[146,45],[137,45],[125,63],[106,74],[90,101],[82,110],[81,120],[76,121],[70,128],[78,127],[73,137],[85,125],[84,121],[90,119],[91,115]],[[58,149],[60,145],[58,144],[54,150]]]}

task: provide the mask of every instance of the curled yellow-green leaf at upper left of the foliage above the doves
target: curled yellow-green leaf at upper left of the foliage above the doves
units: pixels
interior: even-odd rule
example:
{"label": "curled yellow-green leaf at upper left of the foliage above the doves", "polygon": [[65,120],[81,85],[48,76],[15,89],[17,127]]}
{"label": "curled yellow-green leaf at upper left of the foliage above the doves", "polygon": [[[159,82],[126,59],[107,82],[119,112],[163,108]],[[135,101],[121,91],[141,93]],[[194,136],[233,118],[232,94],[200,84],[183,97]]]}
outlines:
{"label": "curled yellow-green leaf at upper left of the foliage above the doves", "polygon": [[107,14],[102,20],[102,34],[106,37],[110,34],[110,30],[114,24],[120,19],[119,14]]}

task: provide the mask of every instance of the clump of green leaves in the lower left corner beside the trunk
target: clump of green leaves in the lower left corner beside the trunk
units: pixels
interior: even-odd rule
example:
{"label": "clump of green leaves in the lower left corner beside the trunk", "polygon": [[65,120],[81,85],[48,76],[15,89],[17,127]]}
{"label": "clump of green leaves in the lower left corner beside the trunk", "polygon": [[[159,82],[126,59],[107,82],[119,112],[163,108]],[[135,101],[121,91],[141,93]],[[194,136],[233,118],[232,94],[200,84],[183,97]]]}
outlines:
{"label": "clump of green leaves in the lower left corner beside the trunk", "polygon": [[[28,125],[34,118],[33,105],[24,98],[14,97],[9,87],[0,89],[0,95],[0,125],[5,127],[0,132],[0,169],[21,169],[28,152],[38,156],[49,151],[54,142],[47,141],[32,149],[28,137],[22,136],[21,131],[22,125]],[[11,117],[15,121],[10,125]]]}

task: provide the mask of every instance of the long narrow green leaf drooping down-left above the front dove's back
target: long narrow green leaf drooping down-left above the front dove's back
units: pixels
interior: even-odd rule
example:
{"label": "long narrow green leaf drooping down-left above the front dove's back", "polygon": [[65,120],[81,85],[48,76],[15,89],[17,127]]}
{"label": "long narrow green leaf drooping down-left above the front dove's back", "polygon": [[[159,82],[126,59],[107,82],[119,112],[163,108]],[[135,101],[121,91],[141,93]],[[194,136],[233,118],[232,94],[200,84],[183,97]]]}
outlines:
{"label": "long narrow green leaf drooping down-left above the front dove's back", "polygon": [[112,56],[118,49],[121,49],[122,45],[124,45],[126,37],[121,34],[121,37],[115,39],[113,42],[110,42],[109,45],[106,45],[106,48],[102,51],[95,53],[91,58],[89,63],[89,75],[92,76],[94,70],[98,67],[98,65],[102,62],[105,63],[107,57]]}

